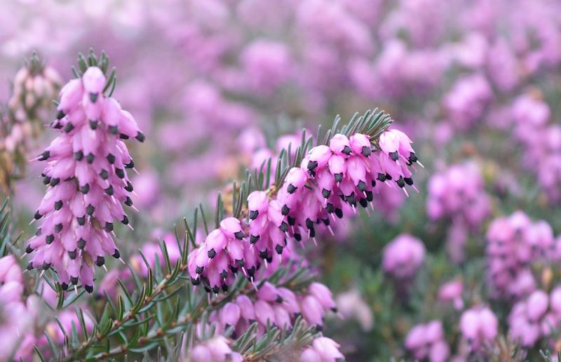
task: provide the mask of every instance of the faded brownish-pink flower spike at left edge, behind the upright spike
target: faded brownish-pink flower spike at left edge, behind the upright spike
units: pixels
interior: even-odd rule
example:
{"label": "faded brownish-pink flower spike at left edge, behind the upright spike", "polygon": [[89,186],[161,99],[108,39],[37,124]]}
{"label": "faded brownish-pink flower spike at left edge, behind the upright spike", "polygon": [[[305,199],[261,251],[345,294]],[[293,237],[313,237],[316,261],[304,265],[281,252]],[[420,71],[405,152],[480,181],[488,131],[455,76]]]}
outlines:
{"label": "faded brownish-pink flower spike at left edge, behind the upright spike", "polygon": [[11,180],[24,175],[32,141],[42,133],[61,83],[36,54],[15,74],[6,113],[0,116],[0,187],[5,193],[11,192]]}

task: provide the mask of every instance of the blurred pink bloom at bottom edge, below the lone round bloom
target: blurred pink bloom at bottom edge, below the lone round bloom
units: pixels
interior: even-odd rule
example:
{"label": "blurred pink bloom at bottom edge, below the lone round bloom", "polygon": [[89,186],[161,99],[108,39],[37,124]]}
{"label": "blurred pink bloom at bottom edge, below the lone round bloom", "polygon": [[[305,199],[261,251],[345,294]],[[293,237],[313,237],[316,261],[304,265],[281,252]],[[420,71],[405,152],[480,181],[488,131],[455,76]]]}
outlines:
{"label": "blurred pink bloom at bottom edge, below the lone round bloom", "polygon": [[440,321],[414,326],[405,337],[405,348],[416,360],[444,362],[450,355]]}

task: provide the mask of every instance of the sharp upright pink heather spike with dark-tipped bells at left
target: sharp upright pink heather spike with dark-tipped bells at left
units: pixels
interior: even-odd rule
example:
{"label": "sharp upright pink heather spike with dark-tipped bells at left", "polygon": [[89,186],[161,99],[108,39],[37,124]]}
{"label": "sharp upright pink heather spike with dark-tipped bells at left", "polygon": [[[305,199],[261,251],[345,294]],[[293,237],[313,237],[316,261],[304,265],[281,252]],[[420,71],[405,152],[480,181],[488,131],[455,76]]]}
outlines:
{"label": "sharp upright pink heather spike with dark-tipped bells at left", "polygon": [[134,163],[122,140],[144,140],[133,116],[102,93],[105,81],[100,68],[89,67],[60,91],[51,124],[60,135],[37,158],[48,161],[48,189],[34,217],[43,221],[26,248],[28,269],[53,267],[62,288],[80,281],[89,293],[93,264],[102,267],[105,255],[120,257],[113,224],[128,224],[121,203],[133,205],[125,169]]}

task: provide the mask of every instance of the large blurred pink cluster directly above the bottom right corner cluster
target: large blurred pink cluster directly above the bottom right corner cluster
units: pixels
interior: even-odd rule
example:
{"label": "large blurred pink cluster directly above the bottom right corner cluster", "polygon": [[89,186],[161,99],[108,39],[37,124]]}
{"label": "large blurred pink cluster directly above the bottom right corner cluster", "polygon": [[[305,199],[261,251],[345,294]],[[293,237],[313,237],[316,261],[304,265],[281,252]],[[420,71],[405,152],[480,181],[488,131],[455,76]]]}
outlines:
{"label": "large blurred pink cluster directly above the bottom right corner cluster", "polygon": [[522,211],[495,219],[487,231],[487,277],[494,297],[518,298],[536,288],[531,263],[557,260],[553,230]]}

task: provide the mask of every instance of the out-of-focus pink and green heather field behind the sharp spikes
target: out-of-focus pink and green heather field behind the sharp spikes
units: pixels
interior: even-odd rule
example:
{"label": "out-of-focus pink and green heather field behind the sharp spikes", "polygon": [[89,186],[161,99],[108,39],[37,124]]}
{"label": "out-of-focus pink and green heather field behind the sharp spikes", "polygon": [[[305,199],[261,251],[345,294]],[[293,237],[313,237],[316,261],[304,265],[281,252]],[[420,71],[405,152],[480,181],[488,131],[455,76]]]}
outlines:
{"label": "out-of-focus pink and green heather field behind the sharp spikes", "polygon": [[[499,334],[514,338],[525,330],[515,303],[560,281],[559,1],[2,0],[5,113],[33,51],[67,81],[90,48],[109,55],[114,96],[147,136],[130,145],[140,212],[134,232],[117,231],[125,259],[198,203],[228,199],[232,181],[303,129],[379,107],[414,141],[419,193],[388,187],[373,215],[303,251],[337,295],[344,318],[325,335],[349,361],[415,356],[407,333],[435,319],[449,355],[462,356],[459,321],[471,307],[490,307]],[[55,133],[23,137],[31,159]],[[25,168],[3,185],[24,239],[44,192],[42,165]],[[552,318],[555,328],[526,343],[529,356],[560,343],[561,314]]]}

